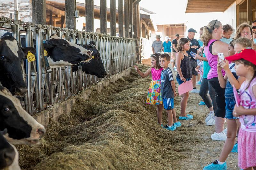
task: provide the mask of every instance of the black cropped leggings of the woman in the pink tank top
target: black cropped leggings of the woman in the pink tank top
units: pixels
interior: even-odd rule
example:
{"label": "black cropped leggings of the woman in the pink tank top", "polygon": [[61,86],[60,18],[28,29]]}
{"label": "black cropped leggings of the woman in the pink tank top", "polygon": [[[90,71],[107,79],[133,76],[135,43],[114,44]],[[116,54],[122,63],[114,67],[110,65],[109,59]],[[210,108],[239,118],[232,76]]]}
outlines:
{"label": "black cropped leggings of the woman in the pink tank top", "polygon": [[209,79],[208,82],[212,85],[213,89],[215,90],[215,97],[217,103],[217,110],[215,112],[215,116],[224,118],[226,114],[225,88],[223,89],[222,87],[220,87],[218,77]]}

